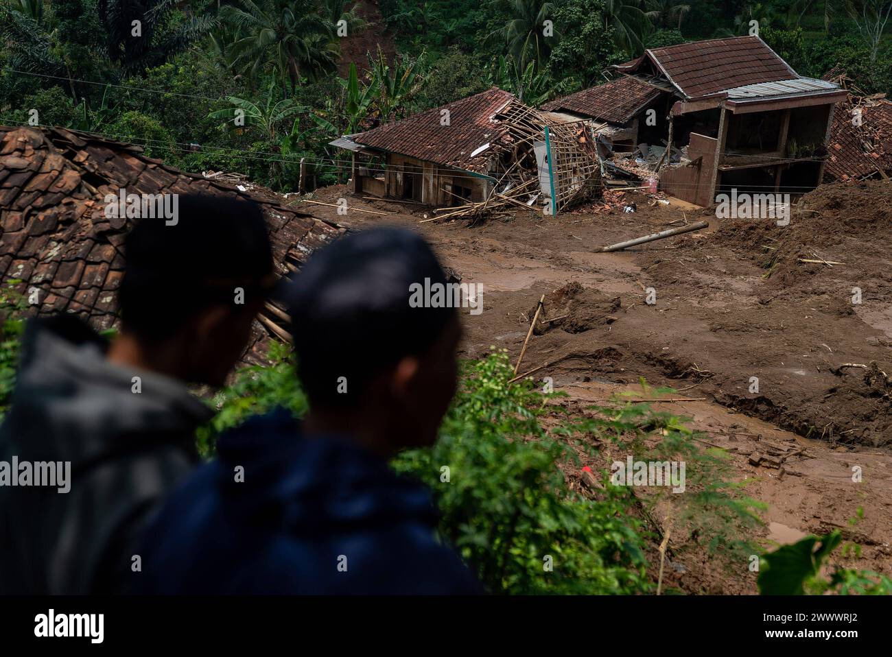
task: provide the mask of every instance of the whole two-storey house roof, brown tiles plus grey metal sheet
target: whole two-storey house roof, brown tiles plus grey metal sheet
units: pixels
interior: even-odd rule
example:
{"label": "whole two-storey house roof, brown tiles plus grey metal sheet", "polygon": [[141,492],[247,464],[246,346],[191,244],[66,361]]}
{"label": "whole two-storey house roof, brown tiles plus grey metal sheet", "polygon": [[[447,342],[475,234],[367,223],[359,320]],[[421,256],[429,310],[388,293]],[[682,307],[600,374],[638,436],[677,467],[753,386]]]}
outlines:
{"label": "whole two-storey house roof, brown tiles plus grey metal sheet", "polygon": [[822,96],[839,89],[832,82],[800,76],[759,37],[653,48],[615,70],[685,100],[708,97],[731,104]]}

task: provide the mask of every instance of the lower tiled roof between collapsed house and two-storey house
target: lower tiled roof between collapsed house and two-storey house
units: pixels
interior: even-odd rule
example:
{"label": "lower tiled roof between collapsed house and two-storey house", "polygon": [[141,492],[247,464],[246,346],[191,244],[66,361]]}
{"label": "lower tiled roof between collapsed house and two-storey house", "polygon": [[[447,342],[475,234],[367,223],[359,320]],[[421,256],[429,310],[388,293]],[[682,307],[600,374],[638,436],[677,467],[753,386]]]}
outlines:
{"label": "lower tiled roof between collapsed house and two-storey house", "polygon": [[610,123],[628,123],[635,114],[657,100],[659,89],[634,78],[619,78],[603,85],[592,86],[556,101],[545,103],[545,111],[572,111],[592,119]]}

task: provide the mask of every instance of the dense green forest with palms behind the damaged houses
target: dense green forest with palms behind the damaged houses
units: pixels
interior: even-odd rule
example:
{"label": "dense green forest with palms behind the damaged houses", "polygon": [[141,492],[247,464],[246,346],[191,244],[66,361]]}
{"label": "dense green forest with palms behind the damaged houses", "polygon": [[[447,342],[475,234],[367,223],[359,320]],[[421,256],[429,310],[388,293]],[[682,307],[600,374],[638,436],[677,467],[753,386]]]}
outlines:
{"label": "dense green forest with palms behind the damaged houses", "polygon": [[301,158],[317,185],[343,181],[335,136],[493,85],[539,104],[645,48],[754,29],[801,75],[838,67],[863,93],[892,91],[884,0],[0,2],[4,124],[99,133],[282,191]]}

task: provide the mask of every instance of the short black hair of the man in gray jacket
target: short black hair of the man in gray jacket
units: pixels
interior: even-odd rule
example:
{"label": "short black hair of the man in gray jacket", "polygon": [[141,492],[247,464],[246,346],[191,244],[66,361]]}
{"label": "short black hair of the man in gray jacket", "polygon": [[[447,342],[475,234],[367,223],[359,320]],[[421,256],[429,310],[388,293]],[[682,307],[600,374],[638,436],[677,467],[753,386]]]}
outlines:
{"label": "short black hair of the man in gray jacket", "polygon": [[273,278],[272,249],[260,206],[237,197],[181,194],[176,223],[137,219],[124,242],[118,302],[125,329],[161,341],[197,312],[250,302]]}

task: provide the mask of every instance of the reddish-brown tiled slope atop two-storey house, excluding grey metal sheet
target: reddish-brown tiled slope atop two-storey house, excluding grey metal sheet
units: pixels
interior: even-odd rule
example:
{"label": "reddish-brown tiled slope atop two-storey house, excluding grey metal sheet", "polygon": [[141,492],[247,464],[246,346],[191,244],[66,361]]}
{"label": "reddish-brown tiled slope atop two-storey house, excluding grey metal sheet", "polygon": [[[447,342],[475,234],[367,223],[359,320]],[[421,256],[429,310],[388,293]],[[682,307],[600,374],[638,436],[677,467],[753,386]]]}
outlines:
{"label": "reddish-brown tiled slope atop two-storey house, excluding grey metal sheet", "polygon": [[654,48],[616,69],[634,73],[646,60],[652,63],[654,72],[662,72],[688,98],[799,78],[759,37],[710,39]]}

